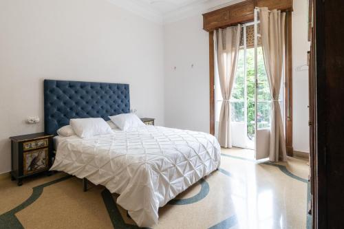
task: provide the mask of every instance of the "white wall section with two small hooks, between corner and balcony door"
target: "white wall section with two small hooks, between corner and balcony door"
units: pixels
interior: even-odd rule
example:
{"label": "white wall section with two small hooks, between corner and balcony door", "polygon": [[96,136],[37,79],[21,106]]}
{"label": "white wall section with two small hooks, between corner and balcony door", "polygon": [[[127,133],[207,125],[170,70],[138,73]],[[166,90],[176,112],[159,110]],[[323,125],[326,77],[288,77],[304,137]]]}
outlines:
{"label": "white wall section with two small hooks, between corner and balcony door", "polygon": [[201,14],[164,26],[166,127],[209,132],[208,47]]}

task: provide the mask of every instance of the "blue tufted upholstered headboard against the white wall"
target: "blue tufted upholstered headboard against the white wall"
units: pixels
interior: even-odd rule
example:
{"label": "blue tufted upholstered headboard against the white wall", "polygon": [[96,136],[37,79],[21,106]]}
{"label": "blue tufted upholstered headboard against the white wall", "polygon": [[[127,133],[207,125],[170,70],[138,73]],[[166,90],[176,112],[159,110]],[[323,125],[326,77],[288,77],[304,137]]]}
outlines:
{"label": "blue tufted upholstered headboard against the white wall", "polygon": [[104,118],[129,113],[129,85],[44,80],[45,133],[69,124],[70,118]]}

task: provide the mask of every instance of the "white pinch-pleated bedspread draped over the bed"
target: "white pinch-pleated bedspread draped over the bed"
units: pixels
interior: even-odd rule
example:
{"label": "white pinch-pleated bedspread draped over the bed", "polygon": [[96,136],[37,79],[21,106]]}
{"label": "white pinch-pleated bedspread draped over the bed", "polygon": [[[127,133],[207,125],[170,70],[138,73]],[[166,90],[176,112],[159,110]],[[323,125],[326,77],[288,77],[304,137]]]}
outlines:
{"label": "white pinch-pleated bedspread draped over the bed", "polygon": [[145,126],[93,138],[63,138],[51,170],[102,184],[120,196],[138,226],[158,223],[158,208],[219,168],[213,135]]}

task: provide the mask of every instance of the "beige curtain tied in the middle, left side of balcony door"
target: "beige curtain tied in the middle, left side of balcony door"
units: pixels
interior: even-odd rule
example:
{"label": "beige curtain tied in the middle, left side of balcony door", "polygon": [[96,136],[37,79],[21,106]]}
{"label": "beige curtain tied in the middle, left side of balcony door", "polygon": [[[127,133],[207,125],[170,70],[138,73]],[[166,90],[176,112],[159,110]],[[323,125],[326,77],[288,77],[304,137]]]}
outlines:
{"label": "beige curtain tied in the middle, left side of balcony door", "polygon": [[214,32],[215,53],[222,106],[219,113],[219,144],[232,147],[230,131],[230,96],[232,94],[240,44],[240,25],[219,29]]}

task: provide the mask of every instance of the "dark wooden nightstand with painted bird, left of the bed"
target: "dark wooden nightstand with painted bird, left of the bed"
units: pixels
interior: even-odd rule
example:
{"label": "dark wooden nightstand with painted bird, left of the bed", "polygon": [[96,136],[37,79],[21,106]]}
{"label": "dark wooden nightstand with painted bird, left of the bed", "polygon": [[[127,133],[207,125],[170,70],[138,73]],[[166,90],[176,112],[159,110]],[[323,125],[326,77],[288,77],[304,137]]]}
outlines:
{"label": "dark wooden nightstand with painted bird, left of the bed", "polygon": [[52,137],[45,133],[32,133],[10,137],[12,149],[12,180],[17,179],[18,186],[23,178],[43,171],[52,166]]}

